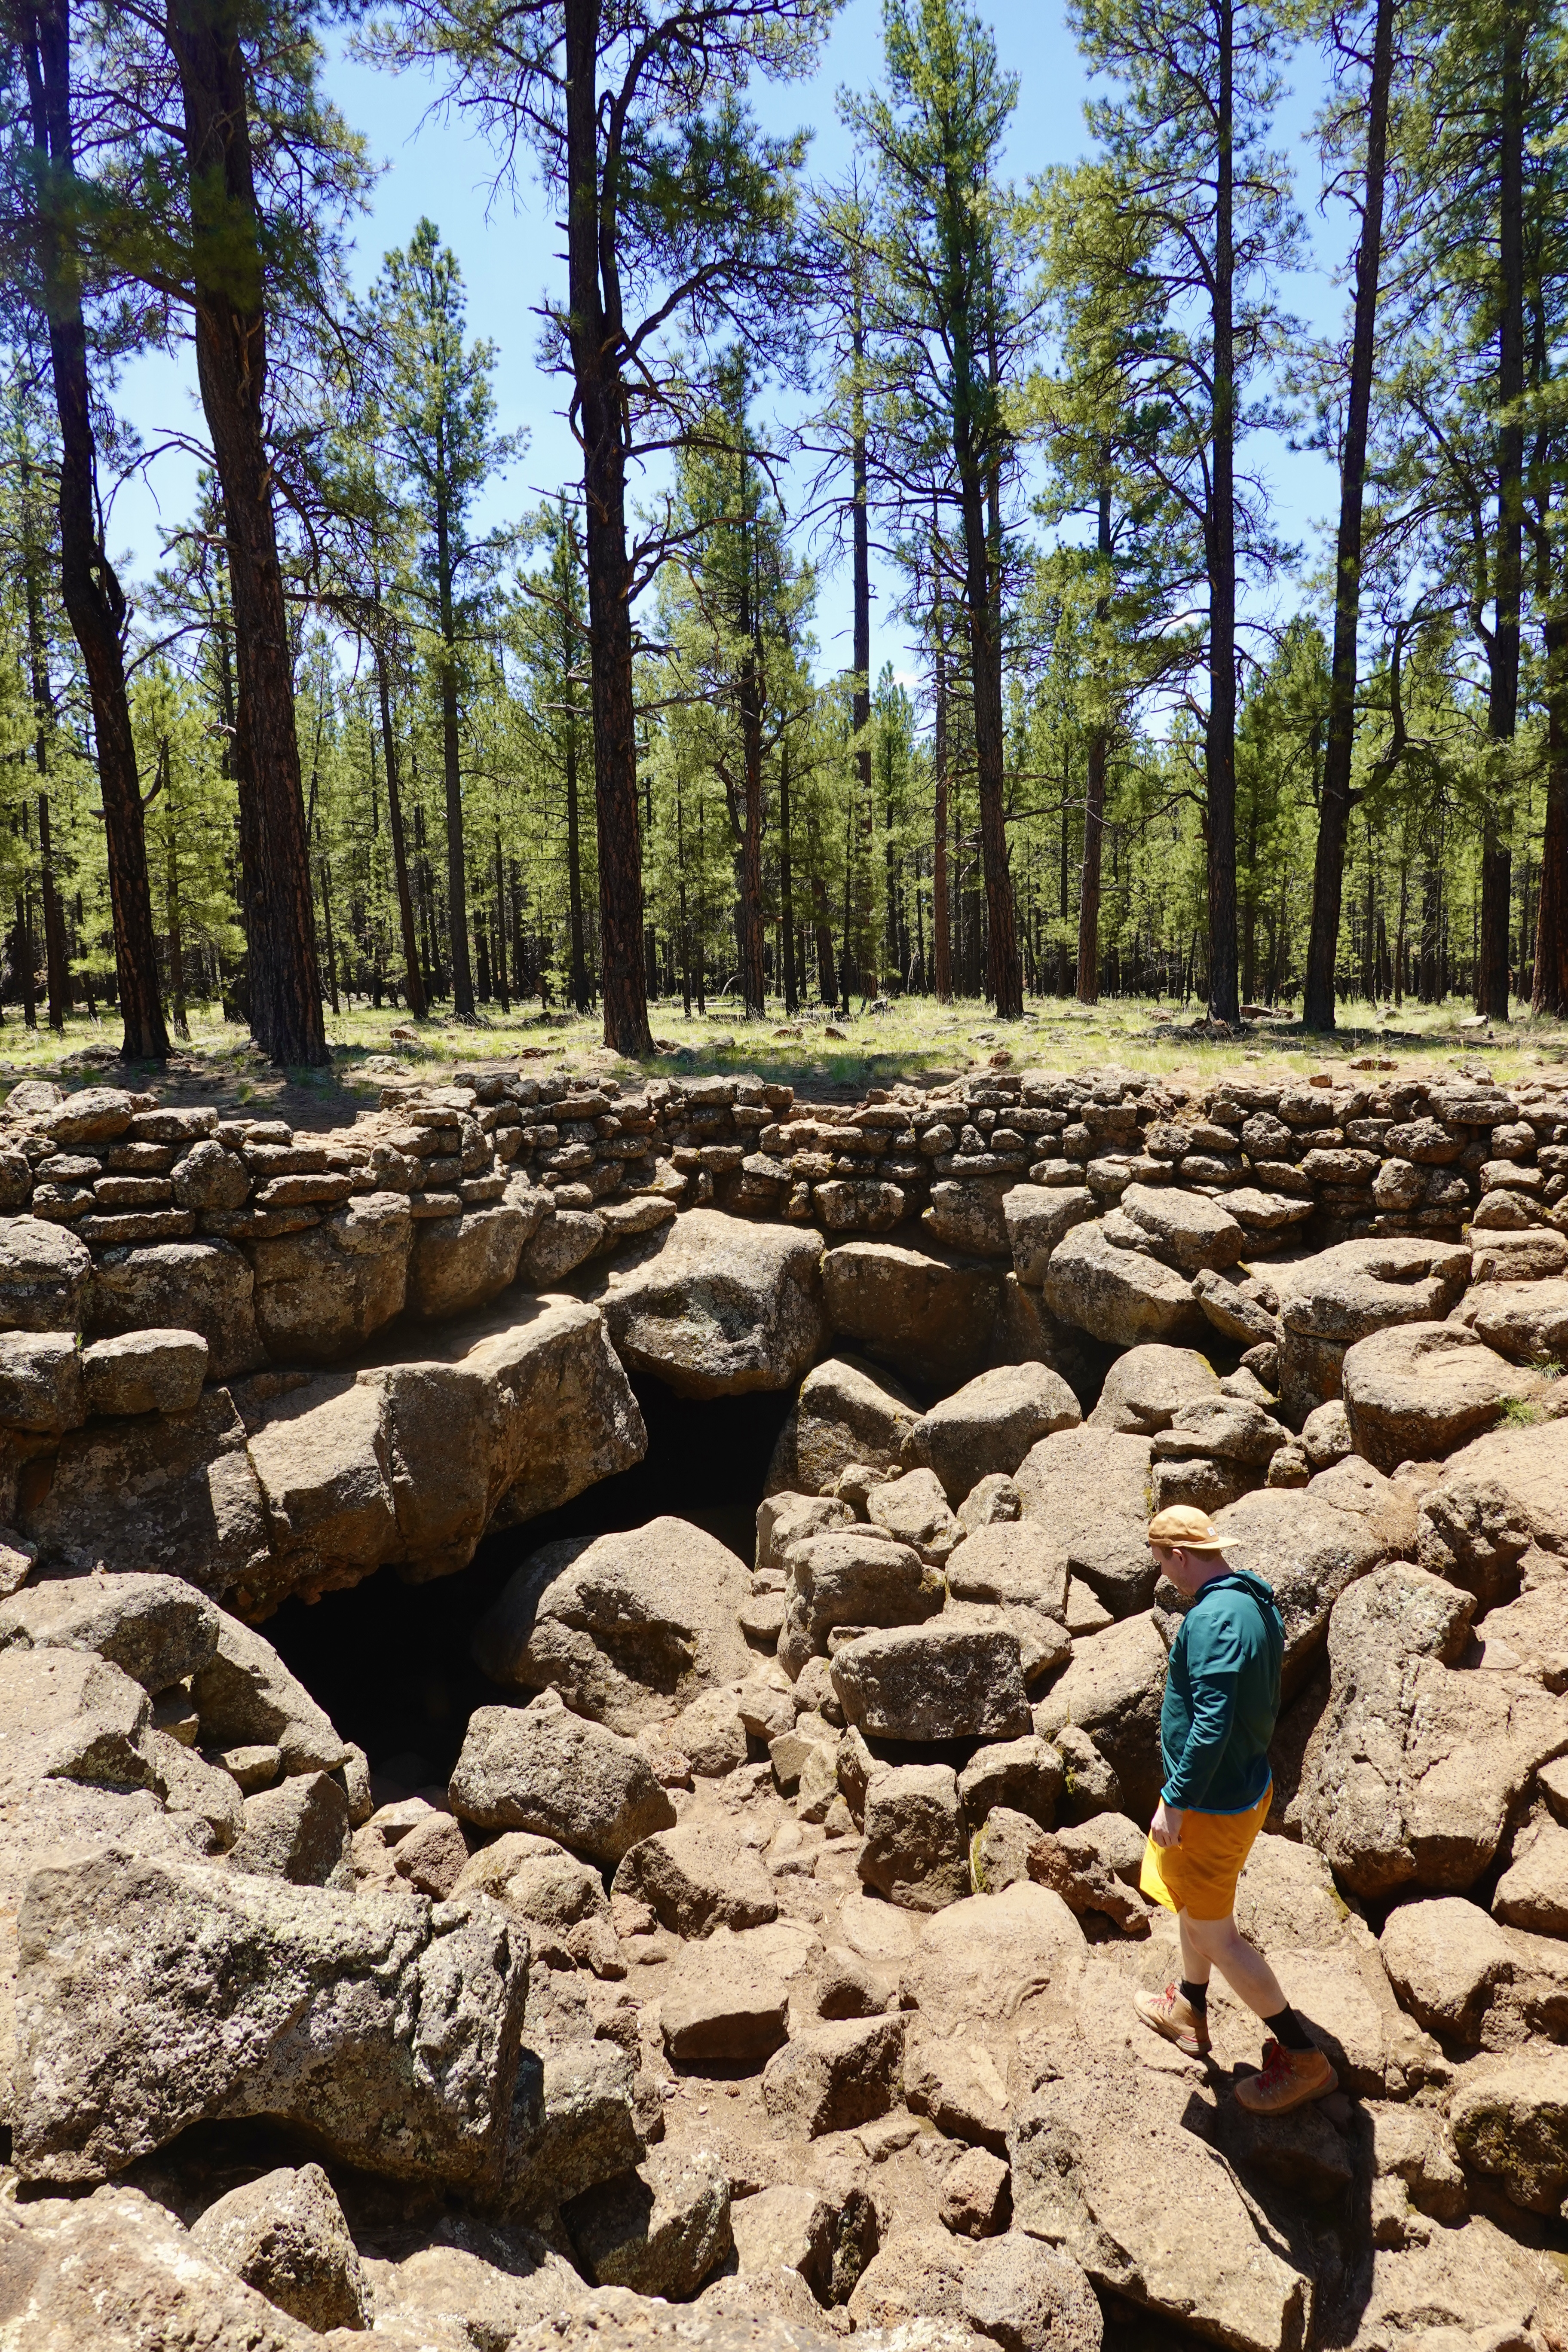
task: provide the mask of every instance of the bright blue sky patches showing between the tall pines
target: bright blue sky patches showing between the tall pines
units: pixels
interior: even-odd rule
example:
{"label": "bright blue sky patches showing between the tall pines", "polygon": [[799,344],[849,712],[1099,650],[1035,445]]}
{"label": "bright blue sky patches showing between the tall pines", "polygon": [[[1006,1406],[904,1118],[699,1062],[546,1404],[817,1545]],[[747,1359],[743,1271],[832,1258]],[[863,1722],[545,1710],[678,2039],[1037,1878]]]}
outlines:
{"label": "bright blue sky patches showing between the tall pines", "polygon": [[[1053,162],[1070,162],[1088,146],[1081,59],[1056,0],[990,7],[1006,68],[1020,94],[1009,141],[1009,167],[1030,176]],[[842,87],[865,89],[882,64],[879,0],[849,0],[809,82],[759,85],[755,108],[769,129],[813,129],[811,169],[837,176],[849,162],[849,139],[835,111]],[[1307,219],[1309,266],[1281,289],[1286,308],[1314,327],[1328,327],[1342,308],[1333,273],[1342,266],[1345,219],[1321,221],[1316,212],[1316,153],[1305,134],[1316,106],[1316,59],[1295,59],[1293,89],[1279,120],[1279,143],[1295,160],[1300,205]],[[536,367],[538,320],[534,303],[555,273],[555,233],[536,188],[491,193],[494,162],[475,129],[458,115],[433,113],[433,87],[418,75],[390,78],[357,64],[334,45],[329,92],[383,165],[369,214],[355,230],[353,278],[369,285],[388,247],[409,240],[421,214],[437,221],[468,282],[468,318],[475,334],[496,346],[498,423],[505,433],[527,428],[529,445],[484,501],[484,520],[512,520],[576,473],[576,447],[562,421],[564,388]],[[169,426],[200,433],[195,372],[188,355],[148,355],[125,369],[115,405],[148,442]],[[1316,553],[1316,527],[1333,510],[1333,475],[1309,454],[1298,454],[1269,435],[1253,454],[1274,489],[1276,529]],[[129,576],[146,576],[158,562],[158,532],[181,522],[190,508],[193,461],[172,452],[132,480],[118,496],[113,546],[129,555]],[[879,581],[872,621],[872,668],[891,659],[900,675],[910,668],[903,630],[889,612],[889,581]],[[1293,593],[1284,593],[1286,609]],[[823,673],[849,663],[849,583],[827,572],[818,593],[818,640]]]}

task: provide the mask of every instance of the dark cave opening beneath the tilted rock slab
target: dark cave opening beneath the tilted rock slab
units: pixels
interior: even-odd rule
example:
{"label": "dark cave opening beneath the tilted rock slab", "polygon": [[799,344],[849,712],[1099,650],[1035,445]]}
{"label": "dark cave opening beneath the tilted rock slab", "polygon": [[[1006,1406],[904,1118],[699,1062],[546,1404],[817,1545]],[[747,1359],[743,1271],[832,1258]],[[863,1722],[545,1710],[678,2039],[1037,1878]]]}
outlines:
{"label": "dark cave opening beneath the tilted rock slab", "polygon": [[602,1536],[661,1515],[691,1519],[752,1562],[757,1503],[795,1390],[693,1402],[658,1381],[635,1381],[649,1451],[618,1477],[524,1526],[489,1536],[458,1576],[402,1583],[381,1569],[346,1592],[306,1606],[284,1602],[263,1625],[268,1642],[320,1700],[343,1738],[364,1748],[371,1769],[416,1785],[447,1780],[475,1708],[522,1703],[468,1656],[480,1616],[512,1571],[562,1536]]}

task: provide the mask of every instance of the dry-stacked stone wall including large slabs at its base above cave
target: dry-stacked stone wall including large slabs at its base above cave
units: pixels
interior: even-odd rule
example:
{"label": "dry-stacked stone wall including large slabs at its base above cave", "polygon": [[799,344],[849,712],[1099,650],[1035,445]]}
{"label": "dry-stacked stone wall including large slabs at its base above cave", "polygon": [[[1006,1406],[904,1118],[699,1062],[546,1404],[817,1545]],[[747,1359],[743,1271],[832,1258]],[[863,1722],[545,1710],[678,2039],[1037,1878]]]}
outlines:
{"label": "dry-stacked stone wall including large slabs at its base above cave", "polygon": [[827,1334],[931,1388],[1030,1359],[1086,1388],[1095,1345],[1218,1334],[1300,1418],[1378,1317],[1319,1329],[1237,1263],[1472,1225],[1505,1291],[1526,1258],[1556,1275],[1566,1138],[1556,1084],[1375,1070],[1199,1096],[987,1070],[811,1110],[755,1077],[475,1070],[331,1134],[21,1084],[0,1524],[247,1616],[383,1564],[440,1576],[639,1456],[625,1369],[785,1388]]}

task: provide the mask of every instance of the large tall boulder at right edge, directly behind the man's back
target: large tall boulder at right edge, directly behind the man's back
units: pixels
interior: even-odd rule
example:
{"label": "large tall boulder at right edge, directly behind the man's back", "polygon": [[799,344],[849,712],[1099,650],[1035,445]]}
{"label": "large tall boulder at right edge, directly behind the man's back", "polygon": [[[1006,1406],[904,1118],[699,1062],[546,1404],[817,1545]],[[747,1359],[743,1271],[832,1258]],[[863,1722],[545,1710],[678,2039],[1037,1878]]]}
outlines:
{"label": "large tall boulder at right edge, directly behind the man's back", "polygon": [[1568,1750],[1568,1700],[1528,1675],[1455,1663],[1474,1606],[1408,1562],[1335,1602],[1328,1708],[1298,1813],[1354,1893],[1474,1886],[1535,1769]]}

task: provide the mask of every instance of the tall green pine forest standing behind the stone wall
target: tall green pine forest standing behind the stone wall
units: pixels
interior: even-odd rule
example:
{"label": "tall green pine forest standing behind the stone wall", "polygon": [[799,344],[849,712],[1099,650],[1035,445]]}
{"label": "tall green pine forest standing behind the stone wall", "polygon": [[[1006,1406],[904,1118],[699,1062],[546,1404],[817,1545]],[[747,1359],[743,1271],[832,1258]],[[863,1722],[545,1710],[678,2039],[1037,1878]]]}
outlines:
{"label": "tall green pine forest standing behind the stone wall", "polygon": [[[0,0],[0,997],[28,1023],[113,1009],[160,1058],[221,1002],[308,1065],[348,1002],[599,1007],[625,1054],[672,1000],[1568,1011],[1552,9],[1072,0],[1086,155],[1027,186],[959,0],[886,0],[837,186],[748,106],[832,0],[353,9],[559,223],[517,301],[543,278],[581,473],[505,529],[475,517],[522,442],[440,226],[350,292],[374,174],[327,14]],[[1326,339],[1279,303],[1302,38],[1352,223]],[[155,452],[115,386],[176,346],[200,499],[127,583],[113,492]],[[1319,569],[1269,508],[1286,430],[1338,475]]]}

